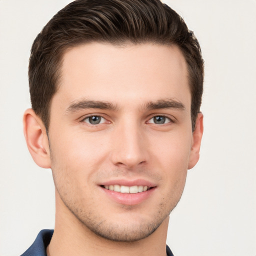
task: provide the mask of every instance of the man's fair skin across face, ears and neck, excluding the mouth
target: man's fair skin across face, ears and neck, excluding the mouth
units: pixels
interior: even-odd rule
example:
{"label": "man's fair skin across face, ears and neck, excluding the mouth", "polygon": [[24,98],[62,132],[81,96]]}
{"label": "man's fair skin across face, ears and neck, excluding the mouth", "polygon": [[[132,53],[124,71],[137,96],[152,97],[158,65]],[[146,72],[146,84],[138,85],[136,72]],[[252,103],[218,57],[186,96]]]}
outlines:
{"label": "man's fair skin across face, ears and neck, excluding the mouth", "polygon": [[[190,104],[175,46],[90,43],[64,54],[48,137],[33,110],[24,114],[29,151],[55,184],[48,255],[166,254],[169,213],[199,158],[202,114],[192,132]],[[100,186],[117,179],[153,189],[139,203],[117,202]]]}

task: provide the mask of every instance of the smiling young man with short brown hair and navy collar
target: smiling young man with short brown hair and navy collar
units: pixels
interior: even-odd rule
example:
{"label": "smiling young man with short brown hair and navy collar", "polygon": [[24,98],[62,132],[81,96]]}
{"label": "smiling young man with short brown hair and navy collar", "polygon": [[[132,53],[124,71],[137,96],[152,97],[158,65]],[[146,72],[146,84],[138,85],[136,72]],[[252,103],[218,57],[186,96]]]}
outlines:
{"label": "smiling young man with short brown hair and navy collar", "polygon": [[22,255],[173,255],[202,83],[196,38],[158,0],[76,0],[53,16],[32,45],[23,123],[52,169],[55,228]]}

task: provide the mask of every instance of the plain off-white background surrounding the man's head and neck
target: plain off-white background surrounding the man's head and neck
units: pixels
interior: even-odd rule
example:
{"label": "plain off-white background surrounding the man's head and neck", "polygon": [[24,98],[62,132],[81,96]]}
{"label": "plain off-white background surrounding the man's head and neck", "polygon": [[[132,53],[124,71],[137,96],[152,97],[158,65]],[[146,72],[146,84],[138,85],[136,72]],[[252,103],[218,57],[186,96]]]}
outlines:
{"label": "plain off-white background surrounding the man's head and neck", "polygon": [[[36,34],[70,0],[0,0],[0,255],[54,227],[51,172],[22,132]],[[256,255],[256,1],[166,1],[195,32],[205,59],[201,158],[170,216],[175,256]]]}

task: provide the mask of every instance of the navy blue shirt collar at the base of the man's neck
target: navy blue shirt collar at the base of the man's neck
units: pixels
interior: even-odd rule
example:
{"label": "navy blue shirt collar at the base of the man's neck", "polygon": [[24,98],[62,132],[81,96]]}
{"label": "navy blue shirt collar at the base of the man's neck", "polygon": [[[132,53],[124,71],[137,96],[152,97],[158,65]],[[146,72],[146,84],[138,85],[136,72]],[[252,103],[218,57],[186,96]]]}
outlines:
{"label": "navy blue shirt collar at the base of the man's neck", "polygon": [[[32,245],[20,256],[47,256],[46,247],[50,243],[53,229],[42,229],[36,236]],[[170,248],[166,245],[167,256],[173,256]]]}

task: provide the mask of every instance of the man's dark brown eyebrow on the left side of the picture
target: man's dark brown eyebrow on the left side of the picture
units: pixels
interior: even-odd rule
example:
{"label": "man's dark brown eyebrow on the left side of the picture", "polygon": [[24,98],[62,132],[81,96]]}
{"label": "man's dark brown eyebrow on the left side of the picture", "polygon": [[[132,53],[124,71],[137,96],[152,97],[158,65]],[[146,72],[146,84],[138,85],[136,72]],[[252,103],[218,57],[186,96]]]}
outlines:
{"label": "man's dark brown eyebrow on the left side of the picture", "polygon": [[98,100],[80,100],[74,103],[71,103],[66,112],[75,112],[76,110],[86,109],[86,108],[98,108],[98,109],[109,109],[116,110],[117,106],[111,102],[98,101]]}

